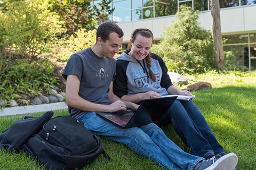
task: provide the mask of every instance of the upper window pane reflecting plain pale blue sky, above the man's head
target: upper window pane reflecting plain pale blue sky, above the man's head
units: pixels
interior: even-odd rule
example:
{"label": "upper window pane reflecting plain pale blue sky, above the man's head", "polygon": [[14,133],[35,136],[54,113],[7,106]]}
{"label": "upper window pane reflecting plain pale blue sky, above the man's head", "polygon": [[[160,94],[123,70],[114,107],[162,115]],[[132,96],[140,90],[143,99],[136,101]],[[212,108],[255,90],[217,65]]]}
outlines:
{"label": "upper window pane reflecting plain pale blue sky, above the man's head", "polygon": [[115,10],[112,14],[114,22],[128,22],[131,21],[130,0],[113,2]]}

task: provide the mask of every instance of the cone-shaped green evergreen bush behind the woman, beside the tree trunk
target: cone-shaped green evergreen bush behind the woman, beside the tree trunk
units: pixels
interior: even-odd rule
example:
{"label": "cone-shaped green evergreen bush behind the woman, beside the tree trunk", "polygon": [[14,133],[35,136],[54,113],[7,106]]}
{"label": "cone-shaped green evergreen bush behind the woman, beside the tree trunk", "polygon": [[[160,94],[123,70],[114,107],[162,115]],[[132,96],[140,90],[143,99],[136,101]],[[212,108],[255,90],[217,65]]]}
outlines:
{"label": "cone-shaped green evergreen bush behind the woman, beside the tree trunk", "polygon": [[199,25],[198,13],[181,5],[178,22],[166,27],[163,39],[151,48],[152,52],[163,57],[169,71],[200,73],[214,66],[212,35]]}

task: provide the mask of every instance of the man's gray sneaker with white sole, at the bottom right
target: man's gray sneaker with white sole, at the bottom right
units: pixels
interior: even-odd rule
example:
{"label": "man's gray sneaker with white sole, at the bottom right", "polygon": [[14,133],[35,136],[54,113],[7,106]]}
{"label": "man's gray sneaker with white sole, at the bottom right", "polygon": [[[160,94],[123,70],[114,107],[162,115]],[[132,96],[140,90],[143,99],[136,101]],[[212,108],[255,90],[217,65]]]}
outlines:
{"label": "man's gray sneaker with white sole, at the bottom right", "polygon": [[224,155],[220,158],[212,157],[203,160],[194,170],[233,170],[236,167],[238,158],[234,153]]}

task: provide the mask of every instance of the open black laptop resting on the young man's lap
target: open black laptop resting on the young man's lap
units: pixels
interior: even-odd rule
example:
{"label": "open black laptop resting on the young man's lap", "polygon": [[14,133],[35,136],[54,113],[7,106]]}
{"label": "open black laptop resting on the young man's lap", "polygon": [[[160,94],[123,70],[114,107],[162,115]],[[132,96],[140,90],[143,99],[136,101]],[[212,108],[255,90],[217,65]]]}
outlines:
{"label": "open black laptop resting on the young man's lap", "polygon": [[97,115],[119,126],[119,128],[140,127],[149,123],[158,123],[177,96],[143,100],[137,109],[127,109],[115,113],[97,112]]}

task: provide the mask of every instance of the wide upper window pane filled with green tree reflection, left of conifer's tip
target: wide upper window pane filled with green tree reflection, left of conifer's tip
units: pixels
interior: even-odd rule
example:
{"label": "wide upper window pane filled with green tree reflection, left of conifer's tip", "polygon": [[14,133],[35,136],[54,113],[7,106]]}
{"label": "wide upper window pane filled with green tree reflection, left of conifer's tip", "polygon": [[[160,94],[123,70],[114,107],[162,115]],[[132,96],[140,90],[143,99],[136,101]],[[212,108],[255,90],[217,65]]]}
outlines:
{"label": "wide upper window pane filled with green tree reflection, left of conifer's tip", "polygon": [[175,15],[177,10],[177,1],[162,0],[155,2],[155,17]]}

